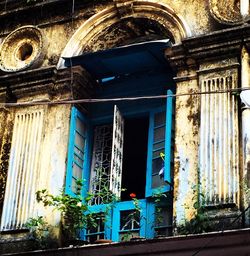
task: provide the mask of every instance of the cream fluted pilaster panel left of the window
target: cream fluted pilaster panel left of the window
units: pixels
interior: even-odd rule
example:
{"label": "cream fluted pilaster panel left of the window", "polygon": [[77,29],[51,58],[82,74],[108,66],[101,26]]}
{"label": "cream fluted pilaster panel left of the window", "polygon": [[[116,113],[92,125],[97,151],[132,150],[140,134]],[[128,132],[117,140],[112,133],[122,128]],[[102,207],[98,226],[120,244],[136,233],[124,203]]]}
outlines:
{"label": "cream fluted pilaster panel left of the window", "polygon": [[42,126],[42,111],[15,116],[1,230],[22,228],[35,214]]}

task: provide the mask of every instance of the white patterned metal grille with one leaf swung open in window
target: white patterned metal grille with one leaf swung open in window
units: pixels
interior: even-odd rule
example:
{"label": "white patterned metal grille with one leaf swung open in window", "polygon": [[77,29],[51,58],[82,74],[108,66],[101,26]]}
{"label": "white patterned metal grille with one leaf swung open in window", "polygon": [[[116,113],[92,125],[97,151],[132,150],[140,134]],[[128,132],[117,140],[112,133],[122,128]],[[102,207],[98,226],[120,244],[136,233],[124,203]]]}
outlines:
{"label": "white patterned metal grille with one leaf swung open in window", "polygon": [[92,205],[109,203],[120,197],[123,159],[124,119],[114,106],[113,125],[95,128],[90,188]]}

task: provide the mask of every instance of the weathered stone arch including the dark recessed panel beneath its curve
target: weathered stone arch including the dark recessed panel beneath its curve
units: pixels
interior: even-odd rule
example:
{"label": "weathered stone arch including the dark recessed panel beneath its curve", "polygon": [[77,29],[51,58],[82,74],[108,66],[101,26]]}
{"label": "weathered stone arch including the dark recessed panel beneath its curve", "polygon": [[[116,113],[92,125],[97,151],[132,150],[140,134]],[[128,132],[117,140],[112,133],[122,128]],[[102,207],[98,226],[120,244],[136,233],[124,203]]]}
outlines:
{"label": "weathered stone arch including the dark recessed panel beneath its curve", "polygon": [[[108,7],[84,22],[64,48],[57,68],[64,67],[62,57],[135,42],[132,38],[137,38],[138,42],[138,38],[141,41],[148,41],[167,37],[177,44],[183,38],[191,36],[190,29],[183,18],[165,4],[137,0],[121,8],[122,11],[117,5]],[[144,29],[140,28],[140,24],[143,24]],[[123,33],[121,35],[123,39],[112,38],[112,34],[117,36],[116,32]],[[134,36],[130,33],[134,33]],[[105,35],[109,36],[108,40],[104,38]],[[103,38],[108,42],[106,46],[101,43],[95,44],[97,41],[103,41]]]}

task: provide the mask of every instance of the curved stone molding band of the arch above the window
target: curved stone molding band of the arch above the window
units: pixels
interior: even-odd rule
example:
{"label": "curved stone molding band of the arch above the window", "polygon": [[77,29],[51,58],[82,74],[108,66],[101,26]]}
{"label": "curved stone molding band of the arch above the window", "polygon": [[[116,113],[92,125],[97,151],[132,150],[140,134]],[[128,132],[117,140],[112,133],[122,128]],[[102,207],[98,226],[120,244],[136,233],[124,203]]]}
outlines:
{"label": "curved stone molding band of the arch above the window", "polygon": [[118,23],[124,18],[146,18],[156,21],[166,28],[166,31],[171,34],[172,40],[176,44],[180,43],[182,39],[191,36],[191,30],[185,20],[166,4],[160,4],[155,1],[135,0],[129,4],[128,8],[128,11],[120,12],[117,5],[114,5],[93,15],[90,19],[85,21],[68,41],[61,54],[57,68],[60,69],[64,67],[62,57],[79,55],[84,45],[92,38],[96,37],[100,31]]}

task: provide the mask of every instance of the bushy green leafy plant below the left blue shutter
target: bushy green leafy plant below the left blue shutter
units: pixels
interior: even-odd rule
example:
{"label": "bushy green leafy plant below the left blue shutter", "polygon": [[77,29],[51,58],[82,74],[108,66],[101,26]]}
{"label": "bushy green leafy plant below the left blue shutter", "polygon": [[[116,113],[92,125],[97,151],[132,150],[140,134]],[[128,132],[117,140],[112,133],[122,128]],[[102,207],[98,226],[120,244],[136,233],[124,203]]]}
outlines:
{"label": "bushy green leafy plant below the left blue shutter", "polygon": [[38,202],[61,212],[63,234],[67,239],[77,239],[82,228],[96,225],[93,214],[88,211],[92,195],[82,196],[83,181],[77,180],[76,185],[74,195],[65,194],[63,190],[56,196],[50,194],[47,189],[36,192]]}

